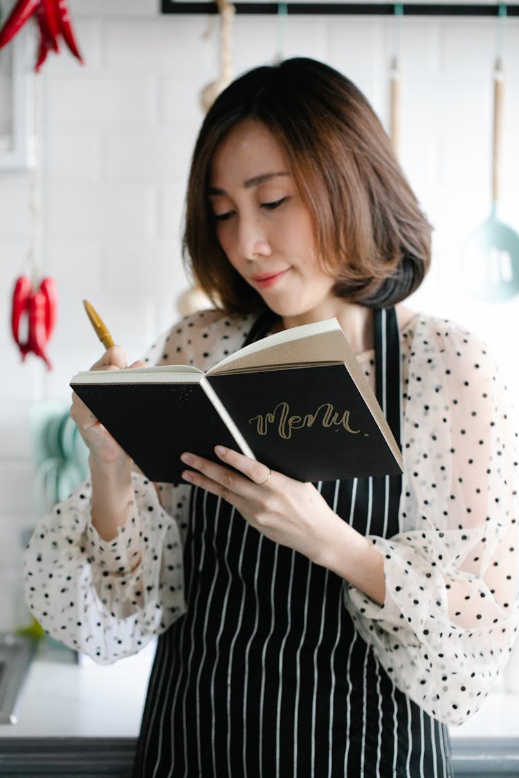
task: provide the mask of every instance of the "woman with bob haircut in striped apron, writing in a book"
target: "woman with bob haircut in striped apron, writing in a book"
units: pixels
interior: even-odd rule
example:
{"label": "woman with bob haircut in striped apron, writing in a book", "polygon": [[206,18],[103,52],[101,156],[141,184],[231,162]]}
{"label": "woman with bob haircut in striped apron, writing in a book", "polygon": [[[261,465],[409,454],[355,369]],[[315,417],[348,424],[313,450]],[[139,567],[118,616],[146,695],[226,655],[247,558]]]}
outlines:
{"label": "woman with bob haircut in striped apron, writing in a book", "polygon": [[186,452],[185,483],[154,486],[74,397],[91,478],[33,535],[33,611],[99,661],[160,634],[135,776],[450,776],[446,724],[477,710],[516,629],[514,436],[484,345],[401,304],[430,226],[356,87],[307,59],[228,87],[195,146],[185,248],[218,308],[148,359],[206,370],[336,317],[404,474],[312,485],[217,447],[221,464]]}

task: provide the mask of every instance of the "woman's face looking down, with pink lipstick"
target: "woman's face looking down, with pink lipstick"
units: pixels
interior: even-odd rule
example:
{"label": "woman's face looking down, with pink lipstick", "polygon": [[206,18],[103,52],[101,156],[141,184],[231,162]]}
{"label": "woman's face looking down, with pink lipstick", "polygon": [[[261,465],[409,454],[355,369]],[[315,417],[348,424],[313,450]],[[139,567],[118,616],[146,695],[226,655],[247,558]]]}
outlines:
{"label": "woman's face looking down, with pink lipstick", "polygon": [[223,251],[269,308],[293,324],[335,315],[334,279],[317,264],[310,213],[265,124],[245,119],[223,139],[209,202]]}

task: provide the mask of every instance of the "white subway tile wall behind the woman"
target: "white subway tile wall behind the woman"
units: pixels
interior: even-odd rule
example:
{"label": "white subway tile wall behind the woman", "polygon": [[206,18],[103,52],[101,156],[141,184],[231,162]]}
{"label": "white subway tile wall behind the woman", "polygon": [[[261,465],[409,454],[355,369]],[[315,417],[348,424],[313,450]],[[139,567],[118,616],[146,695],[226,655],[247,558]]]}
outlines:
{"label": "white subway tile wall behind the woman", "polygon": [[[177,317],[184,187],[202,121],[199,95],[218,74],[207,16],[160,16],[156,0],[72,0],[84,67],[50,54],[44,92],[44,272],[58,283],[54,370],[21,363],[9,335],[12,283],[30,245],[30,172],[0,171],[0,629],[17,626],[22,534],[37,520],[30,406],[69,397],[68,380],[100,353],[82,298],[99,308],[130,359]],[[394,20],[377,16],[237,16],[237,73],[282,56],[327,61],[363,89],[388,123]],[[409,17],[401,25],[402,165],[436,227],[416,307],[465,321],[492,343],[510,383],[517,300],[463,296],[462,247],[490,205],[495,19]],[[519,19],[507,20],[501,214],[519,230]],[[0,96],[9,72],[0,61]],[[0,124],[0,130],[2,125]],[[484,329],[482,329],[484,328]],[[507,337],[507,333],[509,337]]]}

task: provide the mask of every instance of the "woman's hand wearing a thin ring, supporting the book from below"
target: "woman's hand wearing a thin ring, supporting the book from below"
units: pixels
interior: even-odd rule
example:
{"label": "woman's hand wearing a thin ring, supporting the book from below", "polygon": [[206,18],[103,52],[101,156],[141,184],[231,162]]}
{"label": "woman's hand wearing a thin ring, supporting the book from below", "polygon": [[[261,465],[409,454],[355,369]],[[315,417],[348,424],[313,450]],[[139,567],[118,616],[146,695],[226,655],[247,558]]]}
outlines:
{"label": "woman's hand wearing a thin ring, supporting the book from below", "polygon": [[223,464],[182,454],[184,464],[193,468],[185,470],[182,477],[225,499],[270,540],[322,564],[337,534],[345,527],[351,529],[313,484],[271,471],[266,464],[223,446],[216,446],[215,451]]}

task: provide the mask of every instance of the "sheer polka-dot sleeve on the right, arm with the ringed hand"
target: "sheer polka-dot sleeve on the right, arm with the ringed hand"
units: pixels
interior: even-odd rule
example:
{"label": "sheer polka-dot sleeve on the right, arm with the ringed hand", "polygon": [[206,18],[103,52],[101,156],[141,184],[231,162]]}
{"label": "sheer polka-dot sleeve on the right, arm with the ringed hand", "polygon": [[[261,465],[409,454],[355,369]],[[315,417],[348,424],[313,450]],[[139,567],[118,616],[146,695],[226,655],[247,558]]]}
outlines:
{"label": "sheer polka-dot sleeve on the right, arm with the ringed hand", "polygon": [[363,639],[399,689],[446,724],[478,710],[517,631],[517,434],[486,346],[422,319],[403,343],[399,534],[379,606],[345,587]]}

